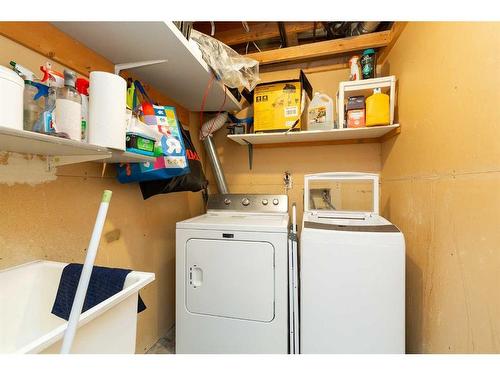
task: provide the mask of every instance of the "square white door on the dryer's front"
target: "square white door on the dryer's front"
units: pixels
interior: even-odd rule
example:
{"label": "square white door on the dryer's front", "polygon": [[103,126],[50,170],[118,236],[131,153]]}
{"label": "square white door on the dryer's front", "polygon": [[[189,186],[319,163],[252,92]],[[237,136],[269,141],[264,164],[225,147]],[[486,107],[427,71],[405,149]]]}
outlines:
{"label": "square white door on the dryer's front", "polygon": [[274,318],[274,247],[269,242],[190,239],[186,308],[195,314]]}

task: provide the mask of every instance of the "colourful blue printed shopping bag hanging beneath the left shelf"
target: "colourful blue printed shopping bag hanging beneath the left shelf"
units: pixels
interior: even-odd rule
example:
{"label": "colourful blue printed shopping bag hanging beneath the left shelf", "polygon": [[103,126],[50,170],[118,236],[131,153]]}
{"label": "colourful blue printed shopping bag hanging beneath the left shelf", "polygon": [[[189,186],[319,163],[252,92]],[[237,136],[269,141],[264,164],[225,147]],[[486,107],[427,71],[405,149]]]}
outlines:
{"label": "colourful blue printed shopping bag hanging beneath the left shelf", "polygon": [[118,181],[121,183],[170,179],[190,172],[186,148],[177,121],[175,108],[154,105],[139,81],[135,88],[142,94],[141,120],[152,129],[161,156],[154,163],[126,163],[118,166]]}

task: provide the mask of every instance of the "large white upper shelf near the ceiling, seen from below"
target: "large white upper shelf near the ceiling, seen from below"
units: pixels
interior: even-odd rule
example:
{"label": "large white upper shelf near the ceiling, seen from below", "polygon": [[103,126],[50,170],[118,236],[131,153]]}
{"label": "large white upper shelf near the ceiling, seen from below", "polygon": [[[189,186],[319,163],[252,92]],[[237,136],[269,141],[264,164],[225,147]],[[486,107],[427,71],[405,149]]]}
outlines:
{"label": "large white upper shelf near the ceiling, seen from below", "polygon": [[[200,111],[211,71],[201,53],[172,22],[53,22],[58,29],[114,64],[164,63],[134,68],[133,74],[190,111]],[[226,98],[224,98],[226,96]],[[236,98],[214,81],[205,111],[240,110]]]}

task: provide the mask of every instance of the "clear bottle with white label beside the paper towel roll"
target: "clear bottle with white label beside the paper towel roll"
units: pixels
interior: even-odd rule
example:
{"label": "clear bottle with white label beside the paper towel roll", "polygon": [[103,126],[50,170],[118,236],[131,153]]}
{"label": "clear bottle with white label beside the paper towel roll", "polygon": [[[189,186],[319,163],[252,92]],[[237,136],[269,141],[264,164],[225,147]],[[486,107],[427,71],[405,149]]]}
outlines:
{"label": "clear bottle with white label beside the paper towel roll", "polygon": [[56,92],[55,128],[75,141],[82,140],[82,98],[75,88],[76,73],[64,70],[64,87]]}

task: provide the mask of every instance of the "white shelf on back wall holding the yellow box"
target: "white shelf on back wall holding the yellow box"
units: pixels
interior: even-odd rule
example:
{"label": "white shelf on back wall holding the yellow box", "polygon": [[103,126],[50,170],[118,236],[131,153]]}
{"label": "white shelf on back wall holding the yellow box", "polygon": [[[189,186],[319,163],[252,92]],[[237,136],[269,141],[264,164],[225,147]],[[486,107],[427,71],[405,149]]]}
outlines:
{"label": "white shelf on back wall holding the yellow box", "polygon": [[348,144],[381,142],[399,133],[399,124],[348,128],[333,130],[305,130],[289,133],[230,134],[227,137],[240,145],[279,145],[279,144]]}

